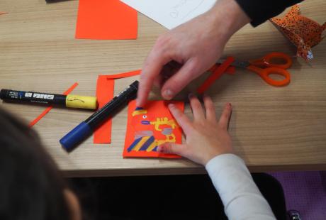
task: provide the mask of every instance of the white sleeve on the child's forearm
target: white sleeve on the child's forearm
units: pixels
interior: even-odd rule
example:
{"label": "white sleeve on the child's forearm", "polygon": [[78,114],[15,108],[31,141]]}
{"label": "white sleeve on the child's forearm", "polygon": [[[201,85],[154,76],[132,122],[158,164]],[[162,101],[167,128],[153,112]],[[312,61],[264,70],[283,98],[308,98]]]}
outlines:
{"label": "white sleeve on the child's forearm", "polygon": [[244,161],[237,155],[218,155],[206,164],[206,170],[229,220],[276,219]]}

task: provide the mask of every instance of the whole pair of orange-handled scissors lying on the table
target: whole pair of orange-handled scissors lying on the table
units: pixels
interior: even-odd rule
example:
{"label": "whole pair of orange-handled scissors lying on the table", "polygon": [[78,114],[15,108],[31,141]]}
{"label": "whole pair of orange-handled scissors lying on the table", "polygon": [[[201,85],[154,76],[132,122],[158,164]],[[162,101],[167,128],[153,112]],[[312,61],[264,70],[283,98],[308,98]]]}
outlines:
{"label": "whole pair of orange-handled scissors lying on the table", "polygon": [[[225,60],[218,60],[217,63],[223,63]],[[235,60],[231,64],[234,67],[245,68],[256,72],[268,84],[281,87],[290,83],[290,73],[286,70],[292,65],[291,57],[285,53],[269,53],[258,60],[239,61]],[[276,80],[269,77],[271,74],[281,75],[284,79]]]}

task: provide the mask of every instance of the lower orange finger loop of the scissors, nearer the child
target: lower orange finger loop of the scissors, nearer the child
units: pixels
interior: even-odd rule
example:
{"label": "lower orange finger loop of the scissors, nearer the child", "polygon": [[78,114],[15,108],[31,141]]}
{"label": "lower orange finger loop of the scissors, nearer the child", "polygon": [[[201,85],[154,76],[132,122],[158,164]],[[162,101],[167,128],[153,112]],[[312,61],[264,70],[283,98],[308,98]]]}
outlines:
{"label": "lower orange finger loop of the scissors, nearer the child", "polygon": [[[264,79],[265,82],[267,82],[268,84],[270,84],[274,87],[286,86],[287,84],[290,83],[290,80],[291,80],[290,73],[288,71],[277,68],[277,67],[268,67],[265,69],[261,69],[254,65],[249,65],[249,67],[247,67],[247,69],[252,70],[253,72],[256,72],[260,77],[262,77],[262,79]],[[282,79],[282,80],[272,79],[271,77],[269,77],[269,75],[271,75],[271,74],[281,75],[282,77],[284,77],[284,79]]]}

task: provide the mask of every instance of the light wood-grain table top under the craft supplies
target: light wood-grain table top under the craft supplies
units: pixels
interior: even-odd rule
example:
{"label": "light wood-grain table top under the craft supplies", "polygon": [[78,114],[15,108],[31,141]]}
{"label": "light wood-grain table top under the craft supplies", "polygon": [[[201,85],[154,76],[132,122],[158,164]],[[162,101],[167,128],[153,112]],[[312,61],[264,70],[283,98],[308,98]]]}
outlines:
{"label": "light wood-grain table top under the craft supplies", "polygon": [[[0,11],[0,88],[62,93],[74,82],[74,94],[95,95],[98,75],[137,70],[160,33],[167,31],[139,15],[137,40],[74,39],[78,1],[45,4],[44,0],[2,0]],[[305,16],[326,21],[324,0],[302,4]],[[240,59],[272,51],[290,55],[295,49],[267,22],[246,26],[232,37],[225,55]],[[220,114],[226,101],[234,106],[230,133],[234,148],[253,172],[326,169],[326,40],[313,48],[315,59],[294,59],[291,84],[271,87],[251,72],[223,75],[208,92]],[[116,81],[115,93],[137,77]],[[203,77],[176,99],[184,99]],[[151,99],[159,99],[157,93]],[[1,103],[31,121],[44,107]],[[189,160],[123,159],[126,108],[113,119],[111,145],[89,138],[72,153],[59,140],[90,111],[52,109],[34,126],[44,145],[67,176],[154,175],[204,172]],[[190,114],[189,106],[186,113]]]}

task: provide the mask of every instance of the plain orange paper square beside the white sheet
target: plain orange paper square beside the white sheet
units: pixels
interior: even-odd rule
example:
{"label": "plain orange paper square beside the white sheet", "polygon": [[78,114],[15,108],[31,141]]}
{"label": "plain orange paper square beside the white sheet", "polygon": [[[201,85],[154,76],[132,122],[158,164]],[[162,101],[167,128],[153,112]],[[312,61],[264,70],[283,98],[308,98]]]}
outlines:
{"label": "plain orange paper square beside the white sheet", "polygon": [[137,11],[119,0],[79,0],[77,39],[137,38]]}

